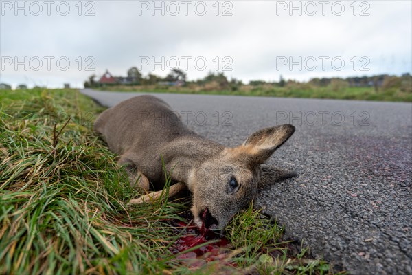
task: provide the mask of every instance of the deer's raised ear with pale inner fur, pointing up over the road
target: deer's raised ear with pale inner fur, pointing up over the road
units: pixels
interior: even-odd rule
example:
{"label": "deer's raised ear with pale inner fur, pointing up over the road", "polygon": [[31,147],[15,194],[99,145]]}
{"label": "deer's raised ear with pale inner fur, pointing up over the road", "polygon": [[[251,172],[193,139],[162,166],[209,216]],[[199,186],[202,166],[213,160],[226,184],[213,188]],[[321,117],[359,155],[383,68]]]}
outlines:
{"label": "deer's raised ear with pale inner fur, pointing up over the road", "polygon": [[277,148],[282,146],[295,132],[295,126],[283,124],[271,128],[265,128],[251,134],[243,142],[247,153],[255,164],[262,164],[271,157]]}

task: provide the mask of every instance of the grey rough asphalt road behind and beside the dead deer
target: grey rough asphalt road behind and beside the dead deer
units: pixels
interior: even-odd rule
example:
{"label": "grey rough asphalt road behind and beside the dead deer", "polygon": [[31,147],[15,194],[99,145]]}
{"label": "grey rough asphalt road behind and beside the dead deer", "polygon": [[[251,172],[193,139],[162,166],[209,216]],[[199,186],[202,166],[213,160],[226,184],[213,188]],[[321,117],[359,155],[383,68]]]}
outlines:
{"label": "grey rough asphalt road behind and beside the dead deer", "polygon": [[[138,93],[82,90],[113,106]],[[140,94],[140,93],[139,93]],[[297,130],[269,164],[299,176],[262,192],[258,204],[352,274],[412,274],[412,104],[155,94],[187,125],[236,146],[253,131]],[[154,118],[155,119],[155,118]]]}

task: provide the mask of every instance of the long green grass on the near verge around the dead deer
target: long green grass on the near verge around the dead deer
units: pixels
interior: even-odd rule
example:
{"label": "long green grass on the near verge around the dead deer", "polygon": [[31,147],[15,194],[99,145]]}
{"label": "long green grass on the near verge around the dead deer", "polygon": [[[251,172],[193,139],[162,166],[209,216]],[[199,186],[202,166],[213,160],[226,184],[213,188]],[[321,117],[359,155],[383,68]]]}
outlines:
{"label": "long green grass on the near verge around the dead deer", "polygon": [[74,89],[0,91],[0,274],[333,273],[252,206],[227,227],[225,259],[176,259],[170,221],[190,199],[127,206],[139,193],[91,130],[100,111]]}

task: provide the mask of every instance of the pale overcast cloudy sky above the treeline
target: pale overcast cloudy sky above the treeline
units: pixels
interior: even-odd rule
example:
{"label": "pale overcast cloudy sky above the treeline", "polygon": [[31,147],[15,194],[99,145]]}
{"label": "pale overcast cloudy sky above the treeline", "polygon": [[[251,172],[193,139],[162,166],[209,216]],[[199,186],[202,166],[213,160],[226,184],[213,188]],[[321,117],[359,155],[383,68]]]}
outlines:
{"label": "pale overcast cloudy sky above the treeline", "polygon": [[0,1],[0,82],[82,87],[138,67],[190,80],[411,72],[411,1]]}

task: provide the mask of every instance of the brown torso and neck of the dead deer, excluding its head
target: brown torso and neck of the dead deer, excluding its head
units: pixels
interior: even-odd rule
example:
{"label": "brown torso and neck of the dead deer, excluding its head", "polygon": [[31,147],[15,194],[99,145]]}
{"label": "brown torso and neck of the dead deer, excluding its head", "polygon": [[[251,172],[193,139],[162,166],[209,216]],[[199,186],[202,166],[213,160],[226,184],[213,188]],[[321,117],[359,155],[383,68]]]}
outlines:
{"label": "brown torso and neck of the dead deer, excluding its head", "polygon": [[95,131],[103,135],[111,151],[121,155],[119,163],[135,165],[154,190],[165,185],[161,158],[172,172],[172,181],[187,182],[191,166],[223,148],[187,129],[170,106],[154,96],[130,98],[104,111]]}

